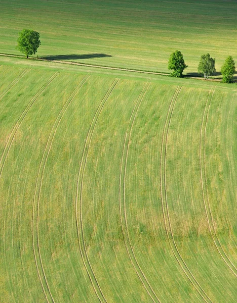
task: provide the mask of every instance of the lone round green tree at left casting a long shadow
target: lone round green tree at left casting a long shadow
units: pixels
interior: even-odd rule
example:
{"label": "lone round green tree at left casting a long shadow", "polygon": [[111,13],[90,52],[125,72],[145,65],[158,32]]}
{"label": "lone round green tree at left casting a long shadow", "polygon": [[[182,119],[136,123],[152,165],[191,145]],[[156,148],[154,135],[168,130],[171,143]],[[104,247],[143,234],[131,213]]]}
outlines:
{"label": "lone round green tree at left casting a long shadow", "polygon": [[29,29],[23,29],[19,33],[17,49],[26,55],[27,59],[30,55],[37,52],[37,48],[41,45],[39,33]]}

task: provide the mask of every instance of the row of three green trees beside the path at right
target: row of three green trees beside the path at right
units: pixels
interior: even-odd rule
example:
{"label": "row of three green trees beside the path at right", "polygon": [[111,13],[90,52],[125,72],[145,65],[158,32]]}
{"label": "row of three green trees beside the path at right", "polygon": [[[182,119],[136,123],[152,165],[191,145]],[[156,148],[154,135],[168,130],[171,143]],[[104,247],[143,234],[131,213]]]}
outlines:
{"label": "row of three green trees beside the path at right", "polygon": [[[216,71],[216,60],[213,59],[210,54],[202,55],[198,67],[198,73],[203,74],[204,78],[208,80],[210,75]],[[173,70],[171,76],[182,77],[183,71],[188,66],[185,64],[183,55],[180,51],[176,51],[170,55],[168,68]],[[225,63],[221,67],[221,74],[223,76],[222,81],[224,83],[231,83],[233,81],[233,75],[235,73],[235,62],[231,56],[228,56]]]}

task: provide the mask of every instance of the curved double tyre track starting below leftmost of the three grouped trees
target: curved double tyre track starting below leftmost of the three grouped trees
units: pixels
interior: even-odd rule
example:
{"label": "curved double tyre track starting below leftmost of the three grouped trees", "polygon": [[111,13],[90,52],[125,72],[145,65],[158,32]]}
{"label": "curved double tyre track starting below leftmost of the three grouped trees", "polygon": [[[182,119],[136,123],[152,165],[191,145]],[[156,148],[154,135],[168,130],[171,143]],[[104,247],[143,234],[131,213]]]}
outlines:
{"label": "curved double tyre track starting below leftmost of the three grouped trees", "polygon": [[[169,240],[169,244],[171,246],[172,252],[174,254],[175,259],[179,263],[180,267],[182,268],[183,272],[193,285],[193,287],[198,291],[200,296],[204,299],[205,302],[212,302],[212,300],[209,298],[207,293],[204,291],[204,289],[201,287],[199,282],[195,279],[191,271],[189,270],[188,266],[186,265],[185,261],[183,260],[179,249],[177,247],[177,244],[174,239],[174,234],[172,230],[170,215],[169,215],[169,207],[168,207],[168,198],[167,198],[167,185],[166,185],[166,159],[167,159],[167,144],[168,144],[168,135],[169,135],[169,127],[171,124],[171,119],[173,116],[175,104],[177,101],[177,98],[179,96],[179,93],[181,91],[182,87],[178,87],[172,100],[170,103],[170,107],[167,113],[167,118],[164,126],[163,136],[162,136],[162,147],[161,147],[161,166],[160,166],[160,185],[161,185],[161,199],[162,199],[162,209],[163,209],[163,216],[164,216],[164,222],[165,222],[165,228],[167,237]],[[168,224],[167,224],[168,222]],[[173,244],[172,244],[173,242]],[[213,302],[212,302],[213,303]]]}

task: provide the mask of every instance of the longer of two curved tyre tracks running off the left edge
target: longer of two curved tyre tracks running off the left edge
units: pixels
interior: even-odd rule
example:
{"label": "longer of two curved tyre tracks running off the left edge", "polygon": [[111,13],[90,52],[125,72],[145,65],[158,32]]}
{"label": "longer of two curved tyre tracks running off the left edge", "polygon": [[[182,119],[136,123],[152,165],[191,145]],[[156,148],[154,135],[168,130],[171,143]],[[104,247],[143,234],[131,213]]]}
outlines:
{"label": "longer of two curved tyre tracks running off the left edge", "polygon": [[30,108],[33,106],[33,104],[35,103],[35,101],[37,100],[37,98],[43,93],[43,91],[49,86],[49,84],[56,78],[56,76],[58,75],[58,73],[55,73],[37,92],[36,94],[33,96],[33,98],[30,100],[30,102],[28,103],[27,107],[24,109],[24,111],[22,112],[21,116],[19,117],[19,119],[17,120],[14,128],[12,129],[12,132],[8,138],[8,141],[5,145],[3,154],[1,156],[0,159],[0,178],[2,175],[2,171],[4,168],[4,164],[6,162],[6,159],[8,157],[9,154],[9,150],[12,146],[12,142],[15,138],[15,135],[19,129],[19,127],[21,126],[21,123],[23,122],[25,116],[27,115],[28,111],[30,110]]}

